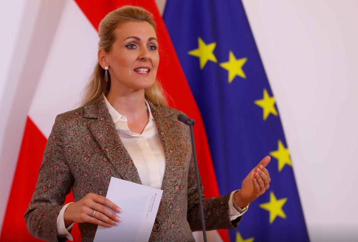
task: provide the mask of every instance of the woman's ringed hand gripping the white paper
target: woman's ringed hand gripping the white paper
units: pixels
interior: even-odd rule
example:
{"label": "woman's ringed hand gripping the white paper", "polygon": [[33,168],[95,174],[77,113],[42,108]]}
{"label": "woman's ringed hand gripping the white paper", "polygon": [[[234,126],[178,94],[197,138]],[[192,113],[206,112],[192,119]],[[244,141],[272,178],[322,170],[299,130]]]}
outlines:
{"label": "woman's ringed hand gripping the white paper", "polygon": [[[81,200],[73,202],[67,206],[63,214],[65,227],[67,228],[73,222],[88,222],[104,227],[117,225],[117,223],[121,221],[121,218],[106,206],[117,213],[121,212],[121,208],[108,198],[94,193],[88,193]],[[95,216],[92,217],[94,210],[96,210]]]}

